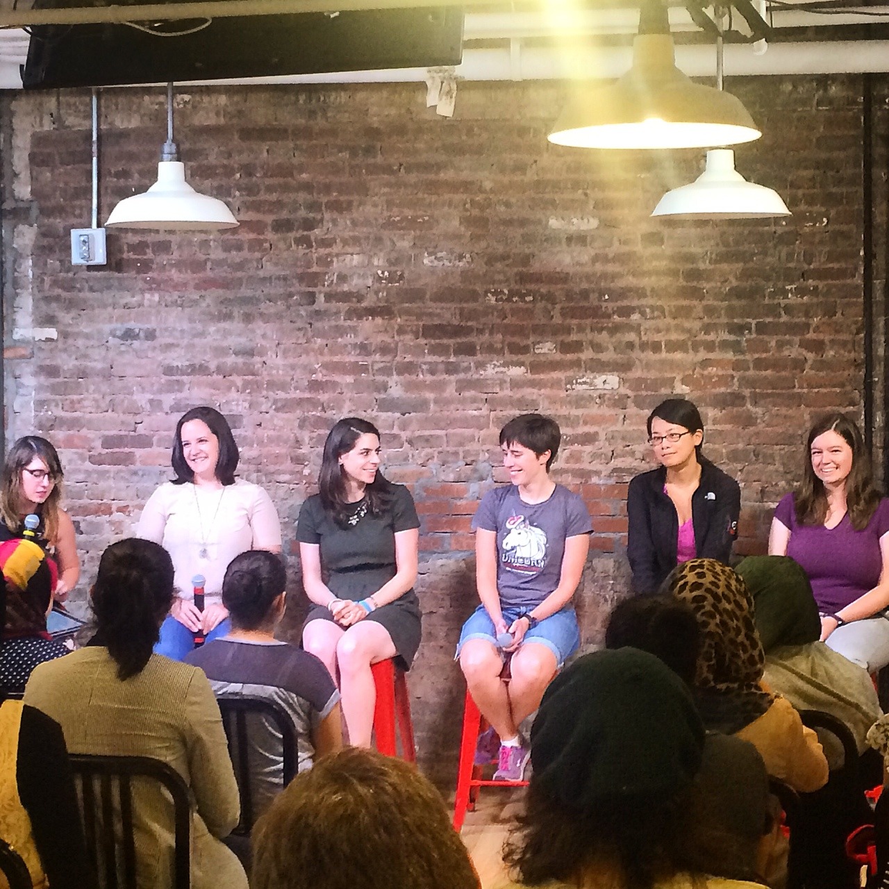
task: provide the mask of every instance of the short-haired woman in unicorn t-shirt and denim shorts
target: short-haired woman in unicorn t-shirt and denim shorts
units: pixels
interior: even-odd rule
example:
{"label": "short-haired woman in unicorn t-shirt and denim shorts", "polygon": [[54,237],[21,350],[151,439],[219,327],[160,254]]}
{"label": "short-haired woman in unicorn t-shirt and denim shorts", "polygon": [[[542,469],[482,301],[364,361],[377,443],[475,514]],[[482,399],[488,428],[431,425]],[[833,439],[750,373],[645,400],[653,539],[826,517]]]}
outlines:
{"label": "short-haired woman in unicorn t-shirt and denim shorts", "polygon": [[[500,442],[512,484],[485,494],[472,523],[482,604],[463,625],[457,656],[491,724],[476,762],[496,758],[495,780],[522,780],[530,751],[518,726],[580,645],[571,599],[592,529],[581,498],[549,477],[561,437],[556,421],[537,413],[509,420]],[[504,653],[512,654],[509,684]]]}

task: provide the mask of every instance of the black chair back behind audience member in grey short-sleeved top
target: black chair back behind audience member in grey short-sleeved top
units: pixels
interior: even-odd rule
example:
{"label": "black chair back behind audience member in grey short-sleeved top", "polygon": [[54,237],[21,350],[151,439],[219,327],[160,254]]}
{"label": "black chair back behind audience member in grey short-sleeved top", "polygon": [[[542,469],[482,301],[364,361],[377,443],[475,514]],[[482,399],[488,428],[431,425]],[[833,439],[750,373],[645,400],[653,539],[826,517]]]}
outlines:
{"label": "black chair back behind audience member in grey short-sleeved top", "polygon": [[241,820],[232,833],[248,837],[259,817],[253,805],[252,774],[250,769],[250,731],[248,717],[266,717],[281,735],[284,757],[284,787],[296,774],[296,727],[287,711],[275,701],[257,697],[220,697],[222,725],[228,738],[228,755],[235,768],[238,793],[241,797]]}

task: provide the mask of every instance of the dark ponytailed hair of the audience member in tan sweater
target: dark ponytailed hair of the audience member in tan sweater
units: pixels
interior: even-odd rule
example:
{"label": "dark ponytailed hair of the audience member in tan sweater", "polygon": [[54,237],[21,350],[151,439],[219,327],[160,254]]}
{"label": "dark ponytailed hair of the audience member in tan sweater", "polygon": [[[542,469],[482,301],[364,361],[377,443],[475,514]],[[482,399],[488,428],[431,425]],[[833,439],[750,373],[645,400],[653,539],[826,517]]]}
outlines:
{"label": "dark ponytailed hair of the audience member in tan sweater", "polygon": [[112,543],[92,588],[97,641],[108,648],[121,680],[145,668],[173,601],[170,554],[152,541]]}

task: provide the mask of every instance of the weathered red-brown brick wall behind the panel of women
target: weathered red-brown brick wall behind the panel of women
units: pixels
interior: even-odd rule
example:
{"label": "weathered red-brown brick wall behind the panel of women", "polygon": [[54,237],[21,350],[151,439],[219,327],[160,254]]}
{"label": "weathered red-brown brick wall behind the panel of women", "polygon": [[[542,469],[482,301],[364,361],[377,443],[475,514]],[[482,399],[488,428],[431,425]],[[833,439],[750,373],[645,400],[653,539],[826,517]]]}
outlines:
{"label": "weathered red-brown brick wall behind the panel of women", "polygon": [[[889,84],[870,85],[883,132]],[[293,521],[332,422],[372,418],[422,517],[412,692],[422,761],[446,783],[461,705],[450,660],[475,600],[469,521],[504,480],[511,415],[557,417],[555,477],[594,517],[586,642],[627,590],[626,483],[651,465],[645,416],[663,396],[701,407],[707,453],[741,481],[738,549],[762,551],[813,413],[861,412],[862,84],[728,88],[765,132],[738,168],[781,192],[789,220],[649,219],[702,153],[550,146],[559,84],[461,84],[452,120],[420,85],[204,88],[177,97],[177,141],[188,180],[240,228],[109,232],[108,266],[76,269],[89,95],[5,94],[6,438],[36,430],[60,448],[80,595],[169,476],[180,413],[216,404],[242,475],[283,519],[295,632]],[[104,218],[154,180],[163,90],[104,93],[101,127]]]}

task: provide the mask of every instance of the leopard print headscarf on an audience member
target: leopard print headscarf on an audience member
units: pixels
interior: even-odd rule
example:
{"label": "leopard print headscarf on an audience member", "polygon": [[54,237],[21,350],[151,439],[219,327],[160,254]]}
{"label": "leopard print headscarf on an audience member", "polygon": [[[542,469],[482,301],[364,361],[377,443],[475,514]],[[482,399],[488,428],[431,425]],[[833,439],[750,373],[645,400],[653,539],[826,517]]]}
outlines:
{"label": "leopard print headscarf on an audience member", "polygon": [[[726,724],[731,724],[731,732],[740,731],[765,713],[773,701],[773,695],[760,685],[765,653],[747,585],[728,565],[709,558],[677,565],[664,585],[671,595],[691,606],[701,628],[695,686],[705,725],[710,730],[729,731]],[[734,709],[734,715],[729,709]],[[705,711],[710,711],[712,719]],[[737,725],[739,720],[741,725]]]}

